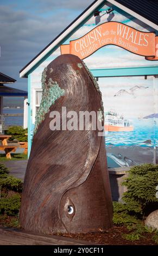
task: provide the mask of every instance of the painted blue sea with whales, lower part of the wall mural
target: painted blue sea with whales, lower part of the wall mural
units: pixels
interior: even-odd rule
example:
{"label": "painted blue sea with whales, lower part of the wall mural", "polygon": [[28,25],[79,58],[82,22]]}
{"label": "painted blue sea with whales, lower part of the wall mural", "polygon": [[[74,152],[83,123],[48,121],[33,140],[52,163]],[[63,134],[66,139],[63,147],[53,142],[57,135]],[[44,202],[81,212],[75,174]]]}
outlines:
{"label": "painted blue sea with whales, lower part of the wall mural", "polygon": [[134,131],[105,132],[109,168],[158,161],[157,156],[154,159],[158,147],[158,118],[133,118],[131,121]]}

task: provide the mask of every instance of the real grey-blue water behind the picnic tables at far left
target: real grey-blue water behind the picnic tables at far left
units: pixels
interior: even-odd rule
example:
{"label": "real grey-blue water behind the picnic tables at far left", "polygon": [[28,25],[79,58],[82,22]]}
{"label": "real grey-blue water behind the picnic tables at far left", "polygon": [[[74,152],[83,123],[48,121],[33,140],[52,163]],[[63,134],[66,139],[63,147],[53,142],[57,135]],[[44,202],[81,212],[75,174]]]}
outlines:
{"label": "real grey-blue water behind the picnic tables at far left", "polygon": [[[23,114],[22,108],[3,108],[3,114]],[[4,122],[5,128],[12,125],[23,126],[23,116],[22,117],[5,117]]]}

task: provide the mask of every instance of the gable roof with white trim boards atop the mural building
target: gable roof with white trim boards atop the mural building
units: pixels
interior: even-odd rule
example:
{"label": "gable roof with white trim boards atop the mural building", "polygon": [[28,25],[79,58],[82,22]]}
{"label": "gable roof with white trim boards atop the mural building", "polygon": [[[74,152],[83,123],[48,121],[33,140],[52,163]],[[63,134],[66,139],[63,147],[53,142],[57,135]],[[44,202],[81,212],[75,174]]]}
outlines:
{"label": "gable roof with white trim boards atop the mural building", "polygon": [[[124,10],[128,14],[136,17],[138,20],[144,22],[145,24],[148,24],[150,27],[154,28],[156,31],[158,31],[158,25],[157,21],[157,13],[155,14],[155,19],[153,18],[154,15],[151,14],[152,12],[148,13],[148,9],[157,8],[157,1],[154,0],[108,0],[108,2],[112,5],[115,5],[116,7]],[[134,4],[135,2],[135,4]],[[148,4],[144,4],[144,2]],[[139,3],[139,4],[138,4]],[[149,4],[150,3],[150,4]],[[77,19],[75,19],[68,27],[64,29],[56,38],[50,42],[37,56],[35,56],[26,66],[24,66],[23,69],[20,70],[20,77],[27,77],[30,70],[34,68],[34,66],[42,61],[42,59],[47,56],[50,52],[53,51],[54,47],[62,44],[65,40],[65,38],[72,34],[75,29],[80,25],[80,23],[84,22],[87,17],[90,16],[95,10],[102,7],[103,4],[106,4],[106,1],[104,0],[96,0],[94,1],[83,13],[81,13]],[[154,5],[153,5],[154,4]],[[147,15],[148,13],[148,15]],[[153,21],[154,19],[154,21]]]}

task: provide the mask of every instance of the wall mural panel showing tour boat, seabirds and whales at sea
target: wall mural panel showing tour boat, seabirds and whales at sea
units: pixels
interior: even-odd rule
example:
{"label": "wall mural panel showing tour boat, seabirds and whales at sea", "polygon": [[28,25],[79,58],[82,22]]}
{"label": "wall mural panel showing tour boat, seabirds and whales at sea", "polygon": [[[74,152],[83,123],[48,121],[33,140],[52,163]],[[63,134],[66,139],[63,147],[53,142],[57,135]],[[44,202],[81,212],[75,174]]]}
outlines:
{"label": "wall mural panel showing tour boat, seabirds and whales at sea", "polygon": [[110,168],[153,163],[158,146],[154,80],[153,76],[99,78]]}

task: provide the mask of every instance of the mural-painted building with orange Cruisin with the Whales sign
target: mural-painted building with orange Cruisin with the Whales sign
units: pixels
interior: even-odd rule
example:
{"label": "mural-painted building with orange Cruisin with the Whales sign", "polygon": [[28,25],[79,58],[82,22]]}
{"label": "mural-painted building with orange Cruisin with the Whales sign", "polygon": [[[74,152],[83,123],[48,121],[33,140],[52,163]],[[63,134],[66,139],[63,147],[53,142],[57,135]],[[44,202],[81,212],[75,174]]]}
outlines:
{"label": "mural-painted building with orange Cruisin with the Whales sign", "polygon": [[102,92],[108,166],[158,162],[157,16],[157,1],[94,1],[24,66],[29,152],[42,71],[60,54],[72,53],[83,59]]}

